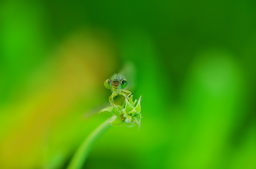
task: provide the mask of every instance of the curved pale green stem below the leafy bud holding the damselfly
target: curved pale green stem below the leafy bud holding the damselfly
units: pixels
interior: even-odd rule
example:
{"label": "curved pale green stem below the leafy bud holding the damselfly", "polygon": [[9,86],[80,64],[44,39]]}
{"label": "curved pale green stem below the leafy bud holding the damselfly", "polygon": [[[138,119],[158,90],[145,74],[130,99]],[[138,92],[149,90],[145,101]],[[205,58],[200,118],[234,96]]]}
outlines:
{"label": "curved pale green stem below the leafy bud holding the damselfly", "polygon": [[82,143],[76,151],[76,154],[71,159],[68,169],[80,169],[83,167],[84,161],[87,158],[93,144],[96,140],[110,127],[109,119],[100,124]]}

